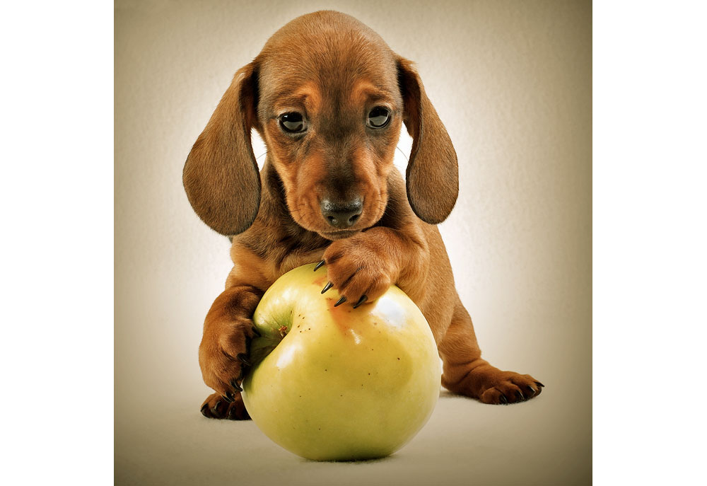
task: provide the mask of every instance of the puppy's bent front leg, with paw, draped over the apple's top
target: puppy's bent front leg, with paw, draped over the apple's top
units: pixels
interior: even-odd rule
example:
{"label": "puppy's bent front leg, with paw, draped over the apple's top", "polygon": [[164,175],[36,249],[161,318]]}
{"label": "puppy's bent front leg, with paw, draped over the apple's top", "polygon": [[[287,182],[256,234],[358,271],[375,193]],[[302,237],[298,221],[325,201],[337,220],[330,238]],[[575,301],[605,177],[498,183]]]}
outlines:
{"label": "puppy's bent front leg, with paw, draped over the apple's top", "polygon": [[324,253],[329,281],[344,302],[360,305],[382,296],[397,284],[413,300],[416,275],[427,271],[429,250],[417,231],[376,226],[351,238],[334,241]]}

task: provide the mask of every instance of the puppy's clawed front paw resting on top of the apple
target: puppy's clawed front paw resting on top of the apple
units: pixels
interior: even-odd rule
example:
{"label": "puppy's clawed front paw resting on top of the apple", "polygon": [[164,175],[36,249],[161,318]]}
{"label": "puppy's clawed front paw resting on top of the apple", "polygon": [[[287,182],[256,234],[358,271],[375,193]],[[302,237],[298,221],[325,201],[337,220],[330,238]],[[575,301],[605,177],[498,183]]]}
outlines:
{"label": "puppy's clawed front paw resting on top of the apple", "polygon": [[334,241],[325,251],[324,260],[331,282],[327,287],[339,291],[345,299],[341,303],[348,302],[357,307],[375,301],[395,284],[391,262],[361,236]]}

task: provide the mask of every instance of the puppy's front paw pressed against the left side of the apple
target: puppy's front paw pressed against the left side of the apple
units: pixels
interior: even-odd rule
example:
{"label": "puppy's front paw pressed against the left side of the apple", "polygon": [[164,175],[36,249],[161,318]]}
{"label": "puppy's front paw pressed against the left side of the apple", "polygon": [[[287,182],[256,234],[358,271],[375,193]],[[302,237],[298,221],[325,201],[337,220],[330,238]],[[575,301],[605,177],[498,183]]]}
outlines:
{"label": "puppy's front paw pressed against the left side of the apple", "polygon": [[255,336],[252,320],[223,319],[209,322],[204,327],[199,346],[199,366],[204,383],[214,388],[226,403],[233,403],[236,398],[240,399],[240,382],[250,366],[248,345]]}

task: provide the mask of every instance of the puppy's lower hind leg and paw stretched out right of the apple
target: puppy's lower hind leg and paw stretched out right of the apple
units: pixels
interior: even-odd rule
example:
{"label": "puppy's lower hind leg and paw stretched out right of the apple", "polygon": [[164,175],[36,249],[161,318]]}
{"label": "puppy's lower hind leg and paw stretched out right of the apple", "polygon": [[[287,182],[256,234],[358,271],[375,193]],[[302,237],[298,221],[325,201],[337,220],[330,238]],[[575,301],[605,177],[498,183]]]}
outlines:
{"label": "puppy's lower hind leg and paw stretched out right of the apple", "polygon": [[439,351],[444,371],[442,385],[453,393],[483,403],[506,404],[530,400],[542,392],[544,385],[532,376],[501,371],[481,359],[472,318],[459,301]]}

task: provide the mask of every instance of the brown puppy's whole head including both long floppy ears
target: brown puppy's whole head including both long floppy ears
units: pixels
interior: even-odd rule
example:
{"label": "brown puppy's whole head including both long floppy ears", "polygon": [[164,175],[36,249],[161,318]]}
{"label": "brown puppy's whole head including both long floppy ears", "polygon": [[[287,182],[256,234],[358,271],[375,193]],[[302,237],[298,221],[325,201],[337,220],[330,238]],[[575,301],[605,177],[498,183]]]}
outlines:
{"label": "brown puppy's whole head including both long floppy ears", "polygon": [[236,74],[187,158],[187,195],[216,231],[245,231],[259,204],[255,128],[293,219],[325,238],[346,238],[385,212],[403,122],[414,139],[408,199],[436,224],[457,198],[457,158],[411,63],[350,16],[296,18]]}

